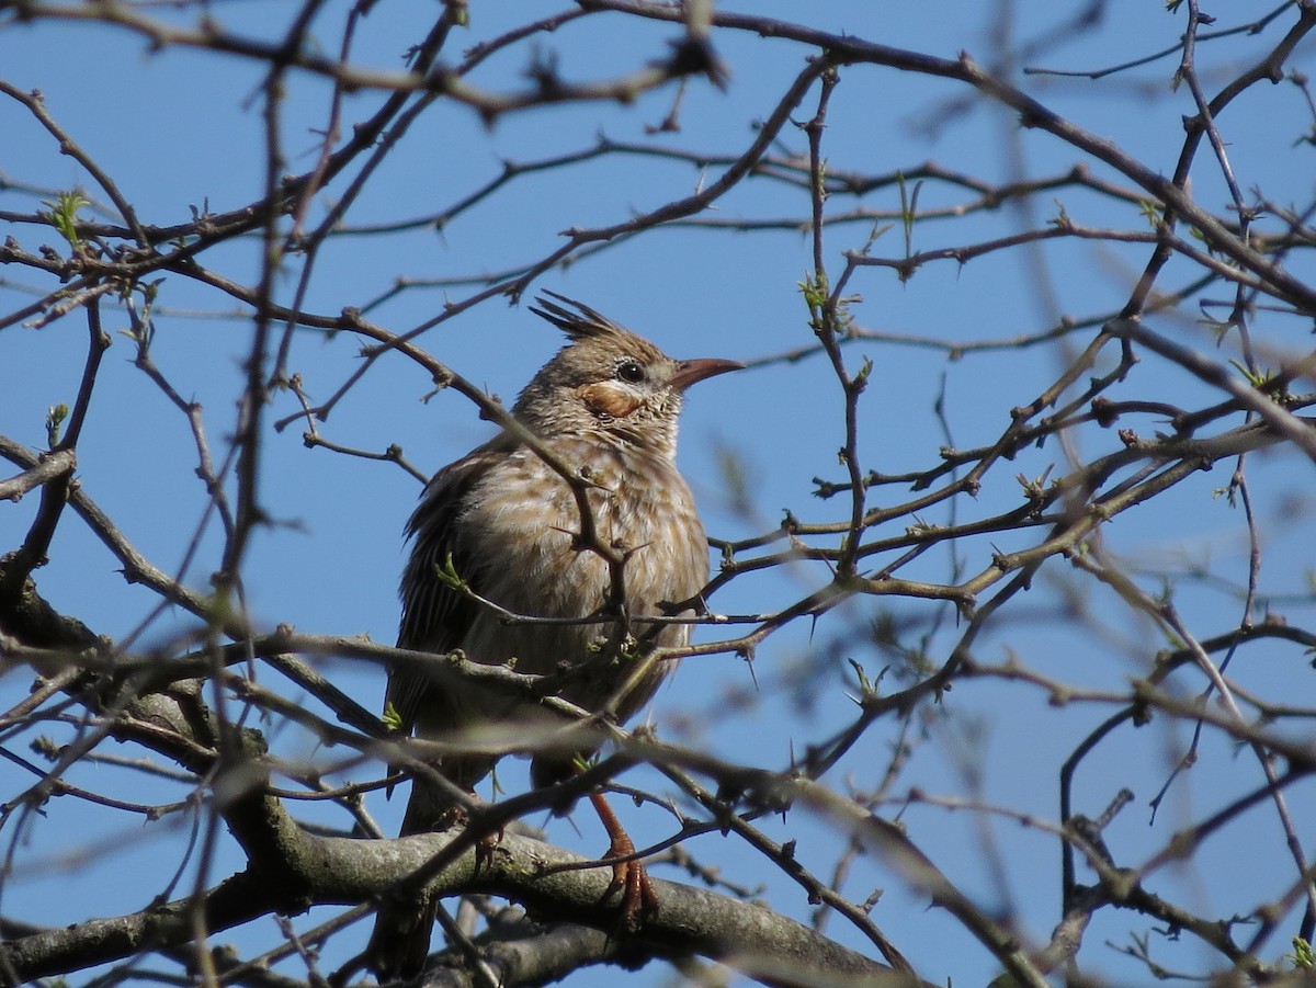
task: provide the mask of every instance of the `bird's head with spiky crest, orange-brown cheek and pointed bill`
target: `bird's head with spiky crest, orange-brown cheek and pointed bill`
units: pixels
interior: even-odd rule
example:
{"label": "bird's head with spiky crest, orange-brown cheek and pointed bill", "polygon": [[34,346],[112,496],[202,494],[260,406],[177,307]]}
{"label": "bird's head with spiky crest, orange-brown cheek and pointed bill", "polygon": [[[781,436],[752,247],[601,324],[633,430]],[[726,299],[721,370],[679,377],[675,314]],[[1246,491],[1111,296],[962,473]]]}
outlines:
{"label": "bird's head with spiky crest, orange-brown cheek and pointed bill", "polygon": [[674,360],[587,305],[545,292],[530,312],[567,334],[516,401],[513,413],[544,437],[600,435],[662,455],[676,453],[676,418],[691,384],[744,367]]}

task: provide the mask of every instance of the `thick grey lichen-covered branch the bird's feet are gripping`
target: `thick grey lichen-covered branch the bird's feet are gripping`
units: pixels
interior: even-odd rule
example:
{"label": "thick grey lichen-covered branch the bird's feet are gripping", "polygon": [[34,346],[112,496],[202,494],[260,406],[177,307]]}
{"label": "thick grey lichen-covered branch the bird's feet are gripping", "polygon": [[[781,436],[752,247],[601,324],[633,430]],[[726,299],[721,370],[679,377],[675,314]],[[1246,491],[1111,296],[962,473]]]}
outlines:
{"label": "thick grey lichen-covered branch the bird's feet are gripping", "polygon": [[[301,833],[299,864],[307,880],[305,906],[355,905],[404,881],[455,839],[462,830],[396,841],[318,838]],[[611,866],[559,870],[583,858],[526,837],[504,834],[476,868],[474,850],[459,855],[434,880],[441,895],[490,892],[522,902],[532,916],[613,931],[616,902],[608,896]],[[628,941],[640,956],[699,954],[729,963],[770,984],[797,984],[805,972],[851,977],[894,977],[891,970],[761,905],[707,889],[655,881],[657,916]],[[230,929],[278,912],[283,895],[268,876],[250,870],[224,881],[205,900],[207,926]],[[21,980],[107,963],[146,946],[191,942],[195,929],[187,899],[111,920],[93,920],[14,939],[3,947],[4,967]],[[901,984],[901,980],[869,981]],[[909,984],[908,979],[903,979]]]}

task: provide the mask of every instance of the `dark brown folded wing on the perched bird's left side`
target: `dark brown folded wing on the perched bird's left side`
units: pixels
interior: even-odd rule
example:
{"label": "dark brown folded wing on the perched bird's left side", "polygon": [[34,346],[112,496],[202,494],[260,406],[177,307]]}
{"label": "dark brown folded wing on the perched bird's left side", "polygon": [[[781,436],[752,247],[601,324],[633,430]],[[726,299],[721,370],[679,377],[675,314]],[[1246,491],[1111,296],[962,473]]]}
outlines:
{"label": "dark brown folded wing on the perched bird's left side", "polygon": [[[479,604],[461,591],[443,584],[436,567],[451,568],[463,580],[476,570],[468,546],[461,538],[461,516],[466,499],[484,472],[507,457],[509,442],[503,437],[474,450],[437,472],[425,487],[421,501],[407,522],[413,541],[401,580],[403,617],[397,647],[449,653],[457,649],[479,610]],[[472,585],[475,592],[479,588]],[[388,672],[386,709],[392,706],[400,729],[411,733],[434,680],[416,668]]]}

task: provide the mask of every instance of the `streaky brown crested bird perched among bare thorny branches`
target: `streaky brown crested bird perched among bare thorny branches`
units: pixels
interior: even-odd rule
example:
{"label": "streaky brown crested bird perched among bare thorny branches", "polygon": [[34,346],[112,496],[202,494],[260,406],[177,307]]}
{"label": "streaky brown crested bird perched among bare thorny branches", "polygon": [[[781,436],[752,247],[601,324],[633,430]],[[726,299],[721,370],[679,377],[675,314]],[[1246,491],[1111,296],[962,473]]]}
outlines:
{"label": "streaky brown crested bird perched among bare thorny branches", "polygon": [[[675,360],[555,292],[545,291],[536,304],[530,312],[562,330],[567,342],[517,397],[512,418],[521,428],[505,428],[426,484],[407,522],[411,553],[397,645],[461,650],[483,664],[515,663],[522,674],[565,672],[559,696],[624,722],[672,668],[670,662],[645,663],[637,651],[690,643],[690,624],[642,618],[700,608],[708,581],[708,538],[676,468],[683,397],[692,384],[744,364]],[[541,450],[574,471],[576,483]],[[509,621],[508,612],[541,621]],[[443,755],[433,767],[468,792],[496,756],[461,751],[463,738],[490,731],[515,738],[542,730],[551,717],[541,705],[454,688],[415,666],[390,671],[386,712],[404,734],[455,742],[459,754]],[[570,778],[579,755],[588,754],[588,742],[584,751],[536,753],[532,784]],[[591,793],[590,801],[611,838],[607,856],[633,854],[603,793]],[[453,820],[451,796],[416,774],[401,834]],[[613,875],[628,921],[638,908],[655,908],[638,860],[615,866]],[[380,904],[365,954],[380,981],[421,972],[436,909],[434,901]]]}

